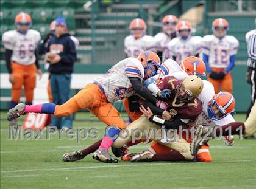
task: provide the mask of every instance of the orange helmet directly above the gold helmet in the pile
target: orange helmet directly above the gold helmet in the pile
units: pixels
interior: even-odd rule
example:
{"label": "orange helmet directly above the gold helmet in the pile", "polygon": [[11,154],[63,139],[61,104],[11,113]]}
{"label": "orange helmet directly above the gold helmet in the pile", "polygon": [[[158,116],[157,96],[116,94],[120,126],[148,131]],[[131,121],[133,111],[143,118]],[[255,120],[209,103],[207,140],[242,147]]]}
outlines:
{"label": "orange helmet directly above the gold helmet in the pile", "polygon": [[180,68],[188,75],[205,76],[205,63],[201,58],[190,56],[182,60]]}

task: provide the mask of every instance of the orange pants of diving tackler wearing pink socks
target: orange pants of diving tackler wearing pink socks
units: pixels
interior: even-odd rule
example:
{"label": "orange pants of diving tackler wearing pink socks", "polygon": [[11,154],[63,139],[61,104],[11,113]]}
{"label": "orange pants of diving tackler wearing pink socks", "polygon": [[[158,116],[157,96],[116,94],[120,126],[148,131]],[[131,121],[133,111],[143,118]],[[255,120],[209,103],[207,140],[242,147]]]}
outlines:
{"label": "orange pants of diving tackler wearing pink socks", "polygon": [[107,125],[115,125],[120,129],[126,126],[124,120],[119,117],[119,112],[107,101],[107,97],[96,84],[87,84],[66,103],[57,105],[54,116],[67,117],[80,109],[88,109]]}

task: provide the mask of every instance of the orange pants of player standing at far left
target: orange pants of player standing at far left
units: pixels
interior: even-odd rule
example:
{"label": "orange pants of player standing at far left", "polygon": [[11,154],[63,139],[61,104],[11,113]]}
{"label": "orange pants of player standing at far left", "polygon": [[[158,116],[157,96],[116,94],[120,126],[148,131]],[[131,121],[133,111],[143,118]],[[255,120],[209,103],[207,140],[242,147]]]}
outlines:
{"label": "orange pants of player standing at far left", "polygon": [[24,86],[26,101],[32,103],[37,78],[37,67],[35,64],[24,66],[15,62],[11,66],[15,78],[12,84],[12,101],[19,103],[22,87]]}

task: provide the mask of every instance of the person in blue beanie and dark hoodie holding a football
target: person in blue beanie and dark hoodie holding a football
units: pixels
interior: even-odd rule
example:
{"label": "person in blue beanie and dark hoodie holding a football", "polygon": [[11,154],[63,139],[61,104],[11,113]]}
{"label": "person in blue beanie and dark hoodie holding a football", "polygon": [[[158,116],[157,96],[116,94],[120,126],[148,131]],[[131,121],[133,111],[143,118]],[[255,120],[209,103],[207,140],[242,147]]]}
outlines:
{"label": "person in blue beanie and dark hoodie holding a football", "polygon": [[[50,64],[51,89],[54,103],[62,105],[69,100],[71,74],[77,60],[76,47],[71,40],[66,21],[62,16],[55,19],[55,35],[52,36],[46,49],[44,61]],[[57,128],[72,127],[72,115],[68,117],[52,117],[52,125]]]}

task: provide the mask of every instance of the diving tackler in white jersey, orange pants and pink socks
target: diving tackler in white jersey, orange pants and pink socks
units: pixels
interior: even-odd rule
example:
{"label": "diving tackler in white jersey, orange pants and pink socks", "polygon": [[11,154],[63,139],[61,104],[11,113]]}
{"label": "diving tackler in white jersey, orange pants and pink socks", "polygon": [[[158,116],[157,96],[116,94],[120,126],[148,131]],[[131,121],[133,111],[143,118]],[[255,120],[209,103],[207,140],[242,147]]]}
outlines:
{"label": "diving tackler in white jersey, orange pants and pink socks", "polygon": [[[7,119],[10,121],[28,112],[67,117],[80,109],[89,109],[99,120],[108,125],[99,150],[93,154],[93,158],[102,162],[116,163],[117,160],[108,153],[108,148],[115,141],[112,137],[119,134],[120,129],[125,128],[126,125],[119,117],[113,102],[137,93],[152,103],[157,103],[157,98],[143,86],[142,81],[157,74],[159,66],[160,58],[154,52],[141,53],[138,58],[126,58],[115,64],[103,77],[96,78],[93,83],[87,84],[63,105],[43,103],[27,106],[20,103],[10,109]],[[69,154],[65,154],[63,160],[68,158]]]}

